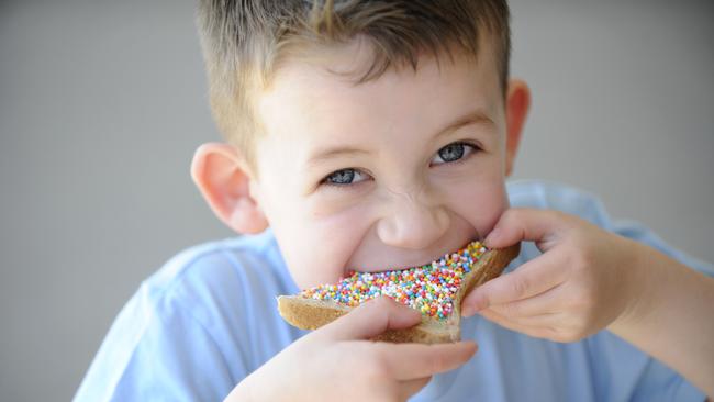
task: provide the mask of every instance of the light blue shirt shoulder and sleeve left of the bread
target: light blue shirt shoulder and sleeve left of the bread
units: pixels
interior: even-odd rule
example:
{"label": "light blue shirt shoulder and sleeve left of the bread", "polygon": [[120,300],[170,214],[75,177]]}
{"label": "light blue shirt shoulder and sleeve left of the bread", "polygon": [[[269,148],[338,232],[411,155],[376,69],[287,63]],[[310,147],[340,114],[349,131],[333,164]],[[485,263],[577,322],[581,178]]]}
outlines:
{"label": "light blue shirt shoulder and sleeve left of the bread", "polygon": [[124,305],[76,400],[224,398],[301,336],[276,312],[292,287],[270,231],[180,252]]}

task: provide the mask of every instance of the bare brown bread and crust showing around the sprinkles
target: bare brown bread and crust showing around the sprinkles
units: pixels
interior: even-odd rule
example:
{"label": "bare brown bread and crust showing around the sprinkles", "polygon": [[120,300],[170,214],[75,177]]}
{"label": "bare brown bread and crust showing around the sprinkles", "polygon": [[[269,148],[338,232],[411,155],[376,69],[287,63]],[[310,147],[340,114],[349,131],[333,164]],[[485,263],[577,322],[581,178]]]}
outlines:
{"label": "bare brown bread and crust showing around the sprinkles", "polygon": [[[478,260],[472,263],[470,271],[464,275],[460,287],[453,297],[453,310],[445,317],[439,319],[423,313],[421,324],[405,330],[389,330],[372,340],[422,344],[460,340],[461,300],[473,288],[500,276],[509,263],[518,255],[520,249],[520,245],[516,244],[509,248],[484,250]],[[278,297],[280,315],[301,330],[316,330],[354,309],[334,300],[311,299],[303,293]]]}

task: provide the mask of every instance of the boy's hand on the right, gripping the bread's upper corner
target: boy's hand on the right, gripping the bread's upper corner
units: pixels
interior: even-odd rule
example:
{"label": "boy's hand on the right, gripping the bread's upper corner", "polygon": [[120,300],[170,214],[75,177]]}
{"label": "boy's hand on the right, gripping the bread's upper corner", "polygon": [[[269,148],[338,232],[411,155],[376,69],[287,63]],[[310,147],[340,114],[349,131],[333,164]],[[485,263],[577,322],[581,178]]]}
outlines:
{"label": "boy's hand on the right, gripping the bread's upper corner", "polygon": [[511,209],[486,244],[502,248],[521,241],[535,242],[544,254],[477,288],[464,301],[464,315],[479,312],[531,336],[574,342],[634,308],[634,242],[564,213]]}

